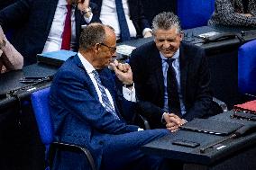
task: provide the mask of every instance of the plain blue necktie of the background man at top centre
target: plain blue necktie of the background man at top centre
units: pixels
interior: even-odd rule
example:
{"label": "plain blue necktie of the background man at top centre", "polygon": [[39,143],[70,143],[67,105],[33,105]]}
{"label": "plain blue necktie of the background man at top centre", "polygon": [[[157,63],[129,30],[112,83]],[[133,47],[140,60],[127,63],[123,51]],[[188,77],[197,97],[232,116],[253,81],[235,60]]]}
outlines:
{"label": "plain blue necktie of the background man at top centre", "polygon": [[121,40],[130,40],[129,27],[125,19],[122,0],[115,0],[116,13],[121,31]]}

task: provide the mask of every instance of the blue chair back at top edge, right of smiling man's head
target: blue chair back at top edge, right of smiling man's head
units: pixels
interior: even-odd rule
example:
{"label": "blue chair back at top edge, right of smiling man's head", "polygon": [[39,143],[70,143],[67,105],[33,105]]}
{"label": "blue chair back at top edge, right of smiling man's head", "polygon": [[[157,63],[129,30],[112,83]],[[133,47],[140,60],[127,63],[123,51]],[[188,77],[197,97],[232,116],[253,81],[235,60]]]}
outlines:
{"label": "blue chair back at top edge, right of smiling man's head", "polygon": [[182,29],[205,26],[215,11],[215,0],[178,0],[177,14]]}

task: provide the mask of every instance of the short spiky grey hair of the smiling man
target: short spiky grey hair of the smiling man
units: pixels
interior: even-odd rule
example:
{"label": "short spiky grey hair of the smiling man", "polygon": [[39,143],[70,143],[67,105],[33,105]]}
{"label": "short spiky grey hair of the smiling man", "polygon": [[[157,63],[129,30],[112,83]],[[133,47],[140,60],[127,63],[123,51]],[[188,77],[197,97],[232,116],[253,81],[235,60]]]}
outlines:
{"label": "short spiky grey hair of the smiling man", "polygon": [[178,16],[171,12],[162,12],[156,15],[152,21],[152,30],[153,32],[162,29],[169,30],[172,27],[176,27],[177,31],[180,32],[180,22]]}

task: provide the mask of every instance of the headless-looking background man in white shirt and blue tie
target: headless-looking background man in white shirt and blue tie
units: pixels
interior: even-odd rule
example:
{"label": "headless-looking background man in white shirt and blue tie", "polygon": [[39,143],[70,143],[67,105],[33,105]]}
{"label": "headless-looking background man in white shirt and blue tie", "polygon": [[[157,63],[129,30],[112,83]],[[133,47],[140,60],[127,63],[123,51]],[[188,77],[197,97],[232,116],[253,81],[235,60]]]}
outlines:
{"label": "headless-looking background man in white shirt and blue tie", "polygon": [[118,41],[151,37],[142,0],[92,0],[99,6],[100,20],[111,25]]}

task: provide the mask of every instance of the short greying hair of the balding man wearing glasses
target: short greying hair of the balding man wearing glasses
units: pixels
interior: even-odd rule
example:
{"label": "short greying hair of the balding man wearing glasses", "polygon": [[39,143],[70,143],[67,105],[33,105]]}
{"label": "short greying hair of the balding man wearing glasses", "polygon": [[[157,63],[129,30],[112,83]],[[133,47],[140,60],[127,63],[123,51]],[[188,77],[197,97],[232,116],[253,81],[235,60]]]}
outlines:
{"label": "short greying hair of the balding man wearing glasses", "polygon": [[105,25],[101,23],[91,23],[83,28],[80,34],[79,47],[88,49],[96,43],[102,43],[105,40]]}

